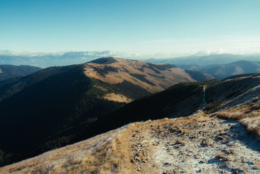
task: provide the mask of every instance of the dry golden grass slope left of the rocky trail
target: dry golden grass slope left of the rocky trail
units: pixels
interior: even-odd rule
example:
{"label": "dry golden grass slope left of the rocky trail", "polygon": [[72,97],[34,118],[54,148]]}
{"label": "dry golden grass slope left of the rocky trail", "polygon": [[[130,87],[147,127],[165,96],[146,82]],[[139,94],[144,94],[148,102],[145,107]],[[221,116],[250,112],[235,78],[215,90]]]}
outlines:
{"label": "dry golden grass slope left of the rocky trail", "polygon": [[0,173],[129,173],[127,130],[135,124],[0,168]]}

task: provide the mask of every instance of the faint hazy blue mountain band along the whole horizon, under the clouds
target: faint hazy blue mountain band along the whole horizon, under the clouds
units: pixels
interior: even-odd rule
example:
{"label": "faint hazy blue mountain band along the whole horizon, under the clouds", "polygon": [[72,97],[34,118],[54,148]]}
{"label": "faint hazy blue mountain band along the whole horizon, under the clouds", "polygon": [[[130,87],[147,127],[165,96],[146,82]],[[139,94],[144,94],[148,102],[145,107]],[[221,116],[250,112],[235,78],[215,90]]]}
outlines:
{"label": "faint hazy blue mountain band along the whole horizon, under the clouds", "polygon": [[[3,53],[4,54],[4,53]],[[7,53],[6,53],[7,54]],[[12,64],[12,65],[31,65],[46,68],[50,66],[64,66],[78,63],[85,63],[91,60],[95,60],[100,57],[121,57],[134,58],[136,55],[128,55],[120,52],[111,51],[85,51],[85,52],[66,52],[62,54],[35,54],[35,55],[0,55],[0,64]],[[134,56],[134,57],[132,57]],[[227,64],[236,62],[238,60],[250,60],[260,61],[260,55],[233,55],[233,54],[217,54],[217,55],[190,55],[186,57],[167,58],[167,59],[142,59],[150,63],[168,63],[177,65],[195,65],[194,69],[182,68],[188,70],[202,69],[201,66],[207,66],[212,64]],[[193,66],[194,67],[194,66]]]}

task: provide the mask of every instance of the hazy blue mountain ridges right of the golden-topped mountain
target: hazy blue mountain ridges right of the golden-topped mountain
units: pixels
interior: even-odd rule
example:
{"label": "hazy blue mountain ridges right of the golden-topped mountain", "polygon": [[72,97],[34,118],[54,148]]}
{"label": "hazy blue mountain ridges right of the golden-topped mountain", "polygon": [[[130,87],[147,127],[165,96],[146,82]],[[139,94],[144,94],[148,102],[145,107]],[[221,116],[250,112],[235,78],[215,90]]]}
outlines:
{"label": "hazy blue mountain ridges right of the golden-topped mountain", "polygon": [[259,55],[242,56],[222,54],[201,57],[187,56],[163,60],[149,59],[147,61],[152,63],[170,63],[181,69],[212,74],[215,75],[217,79],[223,79],[237,74],[260,73],[259,60]]}

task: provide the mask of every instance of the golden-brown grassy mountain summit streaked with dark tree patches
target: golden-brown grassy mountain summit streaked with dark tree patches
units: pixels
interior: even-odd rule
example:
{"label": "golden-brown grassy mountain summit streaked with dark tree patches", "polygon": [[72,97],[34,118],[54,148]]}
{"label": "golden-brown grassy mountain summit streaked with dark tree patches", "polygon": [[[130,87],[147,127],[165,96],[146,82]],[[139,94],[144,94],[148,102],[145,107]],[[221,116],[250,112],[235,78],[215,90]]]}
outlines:
{"label": "golden-brown grassy mountain summit streaked with dark tree patches", "polygon": [[124,80],[142,86],[150,92],[162,91],[179,82],[195,82],[197,77],[215,79],[209,74],[191,74],[170,64],[154,64],[139,60],[121,58],[100,58],[85,64],[85,74],[108,83],[119,83]]}

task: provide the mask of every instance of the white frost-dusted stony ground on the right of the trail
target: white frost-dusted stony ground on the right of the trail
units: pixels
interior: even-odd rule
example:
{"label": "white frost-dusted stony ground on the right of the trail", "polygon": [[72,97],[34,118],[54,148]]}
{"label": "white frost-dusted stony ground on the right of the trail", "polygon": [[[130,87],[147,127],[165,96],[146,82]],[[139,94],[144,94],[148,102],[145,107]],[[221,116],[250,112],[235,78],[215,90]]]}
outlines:
{"label": "white frost-dusted stony ground on the right of the trail", "polygon": [[185,133],[173,130],[165,137],[159,131],[149,137],[147,129],[150,141],[160,141],[151,157],[161,173],[260,173],[259,141],[238,122],[212,119],[179,127]]}

